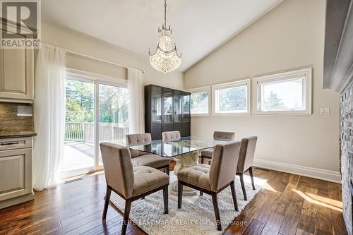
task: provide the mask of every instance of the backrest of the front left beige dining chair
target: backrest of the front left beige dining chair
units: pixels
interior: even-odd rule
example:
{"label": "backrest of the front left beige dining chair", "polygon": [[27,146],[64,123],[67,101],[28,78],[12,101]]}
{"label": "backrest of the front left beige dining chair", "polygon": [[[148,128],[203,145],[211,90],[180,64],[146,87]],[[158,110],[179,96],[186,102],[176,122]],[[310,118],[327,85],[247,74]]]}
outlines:
{"label": "backrest of the front left beige dining chair", "polygon": [[107,185],[125,198],[133,194],[133,164],[128,147],[113,143],[100,143]]}

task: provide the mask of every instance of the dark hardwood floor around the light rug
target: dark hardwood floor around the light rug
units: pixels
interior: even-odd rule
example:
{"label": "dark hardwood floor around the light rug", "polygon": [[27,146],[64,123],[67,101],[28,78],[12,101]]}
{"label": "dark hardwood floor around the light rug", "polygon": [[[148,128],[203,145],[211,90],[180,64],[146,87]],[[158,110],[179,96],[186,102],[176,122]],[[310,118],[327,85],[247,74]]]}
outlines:
{"label": "dark hardwood floor around the light rug", "polygon": [[[225,234],[347,234],[340,184],[264,169],[253,173],[268,183]],[[0,235],[120,234],[117,208],[109,206],[102,224],[105,189],[100,172],[35,193],[35,200],[0,210]],[[131,224],[127,234],[145,233]]]}

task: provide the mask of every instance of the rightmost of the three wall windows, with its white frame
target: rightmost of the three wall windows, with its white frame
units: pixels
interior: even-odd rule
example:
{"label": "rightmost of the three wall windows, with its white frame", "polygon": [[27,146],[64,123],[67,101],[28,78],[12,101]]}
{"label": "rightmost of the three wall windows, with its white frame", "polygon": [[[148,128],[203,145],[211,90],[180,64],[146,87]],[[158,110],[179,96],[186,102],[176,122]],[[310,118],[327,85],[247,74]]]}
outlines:
{"label": "rightmost of the three wall windows, with its white frame", "polygon": [[254,80],[256,114],[311,114],[311,68]]}

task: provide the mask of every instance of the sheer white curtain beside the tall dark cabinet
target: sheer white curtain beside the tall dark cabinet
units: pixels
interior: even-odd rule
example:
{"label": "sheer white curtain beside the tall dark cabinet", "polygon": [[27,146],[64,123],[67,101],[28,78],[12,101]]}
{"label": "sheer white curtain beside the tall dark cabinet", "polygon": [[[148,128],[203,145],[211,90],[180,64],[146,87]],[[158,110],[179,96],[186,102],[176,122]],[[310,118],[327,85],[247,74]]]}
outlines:
{"label": "sheer white curtain beside the tall dark cabinet", "polygon": [[129,133],[144,133],[145,119],[143,109],[143,73],[135,68],[128,68],[128,94],[130,104],[128,107]]}

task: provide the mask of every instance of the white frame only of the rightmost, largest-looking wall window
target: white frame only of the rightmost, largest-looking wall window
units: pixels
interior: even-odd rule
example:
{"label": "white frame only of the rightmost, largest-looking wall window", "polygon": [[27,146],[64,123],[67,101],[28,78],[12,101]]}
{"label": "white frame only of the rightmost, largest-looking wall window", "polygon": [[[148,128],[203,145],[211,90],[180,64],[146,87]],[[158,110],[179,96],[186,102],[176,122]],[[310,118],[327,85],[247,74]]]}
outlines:
{"label": "white frame only of the rightmost, largest-looking wall window", "polygon": [[[304,98],[304,105],[305,109],[304,110],[295,110],[295,109],[289,109],[289,110],[277,110],[277,111],[261,111],[261,85],[266,84],[266,83],[276,83],[280,81],[286,81],[286,80],[295,80],[302,78],[304,75],[304,92],[303,92],[303,98]],[[312,114],[312,107],[311,107],[311,100],[312,100],[312,94],[311,94],[311,83],[312,83],[312,68],[303,68],[299,70],[294,70],[294,71],[288,71],[285,73],[274,73],[268,76],[259,76],[253,78],[253,83],[256,84],[254,89],[256,89],[255,93],[255,99],[254,99],[254,109],[253,109],[253,114],[256,115],[278,115],[278,114],[292,114],[292,115],[311,115]]]}

